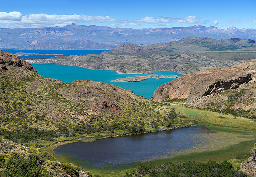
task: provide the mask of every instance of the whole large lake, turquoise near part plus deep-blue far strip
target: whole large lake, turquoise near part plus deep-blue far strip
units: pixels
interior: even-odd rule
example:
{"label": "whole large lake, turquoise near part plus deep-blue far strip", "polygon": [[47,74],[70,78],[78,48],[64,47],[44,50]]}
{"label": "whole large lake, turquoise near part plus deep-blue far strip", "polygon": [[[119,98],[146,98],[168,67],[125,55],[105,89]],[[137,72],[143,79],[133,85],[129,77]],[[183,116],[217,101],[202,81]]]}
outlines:
{"label": "whole large lake, turquoise near part plus deep-blue far strip", "polygon": [[[63,54],[63,55],[36,55],[32,57],[21,56],[20,58],[49,58],[54,56],[68,56],[68,55],[86,55],[92,53],[102,53],[106,50],[14,50],[14,49],[3,49],[3,51],[16,53],[41,53],[41,54]],[[114,71],[107,70],[90,70],[84,69],[83,67],[70,67],[66,65],[41,65],[33,64],[32,65],[37,71],[38,74],[43,77],[49,77],[58,79],[64,83],[69,83],[75,80],[92,80],[98,82],[104,82],[108,84],[113,84],[118,87],[122,87],[126,90],[132,90],[134,93],[143,96],[145,98],[151,98],[154,94],[156,88],[164,83],[168,83],[173,79],[148,79],[140,82],[129,82],[129,83],[118,83],[118,82],[109,82],[115,79],[124,78],[124,77],[137,77],[137,76],[146,76],[149,74],[118,74]],[[156,75],[179,75],[173,71],[154,71]]]}

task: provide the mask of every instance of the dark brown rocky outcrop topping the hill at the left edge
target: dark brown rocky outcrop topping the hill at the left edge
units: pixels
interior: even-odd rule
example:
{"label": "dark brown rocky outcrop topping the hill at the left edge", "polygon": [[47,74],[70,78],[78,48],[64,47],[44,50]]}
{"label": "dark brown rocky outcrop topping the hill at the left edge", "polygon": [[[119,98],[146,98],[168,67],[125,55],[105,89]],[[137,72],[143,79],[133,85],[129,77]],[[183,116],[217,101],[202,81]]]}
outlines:
{"label": "dark brown rocky outcrop topping the hill at the left edge", "polygon": [[0,71],[8,70],[8,66],[18,66],[20,68],[23,68],[25,70],[35,71],[29,63],[24,61],[23,59],[20,59],[16,55],[8,52],[4,52],[0,50]]}

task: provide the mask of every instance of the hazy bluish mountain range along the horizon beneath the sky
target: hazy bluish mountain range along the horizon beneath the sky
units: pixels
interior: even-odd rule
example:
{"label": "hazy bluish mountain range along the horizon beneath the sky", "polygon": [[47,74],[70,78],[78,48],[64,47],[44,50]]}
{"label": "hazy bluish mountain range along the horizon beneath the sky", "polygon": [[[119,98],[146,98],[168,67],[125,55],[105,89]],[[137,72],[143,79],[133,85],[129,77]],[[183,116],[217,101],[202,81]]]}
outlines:
{"label": "hazy bluish mountain range along the horizon beneath the sky", "polygon": [[143,46],[168,43],[189,36],[256,39],[256,30],[235,27],[224,30],[214,26],[133,29],[76,24],[50,28],[1,28],[0,48],[110,50],[124,42]]}

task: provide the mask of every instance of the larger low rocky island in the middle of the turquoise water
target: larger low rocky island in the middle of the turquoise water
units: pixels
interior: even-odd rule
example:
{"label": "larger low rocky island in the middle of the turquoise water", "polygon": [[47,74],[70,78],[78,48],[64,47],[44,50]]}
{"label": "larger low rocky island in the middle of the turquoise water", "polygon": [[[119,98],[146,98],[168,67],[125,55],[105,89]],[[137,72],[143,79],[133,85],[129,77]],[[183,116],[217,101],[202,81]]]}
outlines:
{"label": "larger low rocky island in the middle of the turquoise water", "polygon": [[120,78],[120,79],[116,79],[114,81],[110,81],[110,82],[140,82],[142,80],[146,80],[148,78],[156,78],[156,79],[164,79],[164,78],[177,78],[177,75],[147,75],[147,76],[138,76],[138,78],[136,77],[125,77],[125,78]]}

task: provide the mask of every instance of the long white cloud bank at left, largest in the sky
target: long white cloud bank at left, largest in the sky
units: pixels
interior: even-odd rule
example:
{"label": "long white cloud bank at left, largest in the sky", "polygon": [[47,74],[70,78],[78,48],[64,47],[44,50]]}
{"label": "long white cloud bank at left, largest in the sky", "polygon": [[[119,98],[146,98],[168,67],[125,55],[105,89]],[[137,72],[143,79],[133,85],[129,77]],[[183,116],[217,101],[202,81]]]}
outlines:
{"label": "long white cloud bank at left, largest in the sky", "polygon": [[0,24],[6,24],[8,28],[20,27],[45,27],[65,26],[77,22],[102,23],[117,22],[116,18],[109,16],[87,16],[87,15],[48,15],[29,14],[22,15],[20,12],[0,12]]}

